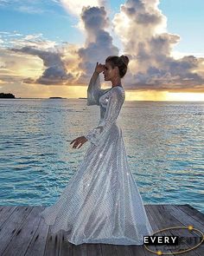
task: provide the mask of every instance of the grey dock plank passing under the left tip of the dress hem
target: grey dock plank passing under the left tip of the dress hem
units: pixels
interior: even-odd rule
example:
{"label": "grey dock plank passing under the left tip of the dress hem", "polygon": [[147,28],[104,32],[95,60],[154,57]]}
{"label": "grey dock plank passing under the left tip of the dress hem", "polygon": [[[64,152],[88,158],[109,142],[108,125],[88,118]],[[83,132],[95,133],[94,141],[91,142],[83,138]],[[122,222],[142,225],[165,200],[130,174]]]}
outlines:
{"label": "grey dock plank passing under the left tip of the dress hem", "polygon": [[[44,209],[42,207],[41,210],[39,208],[39,213]],[[29,243],[27,251],[25,252],[24,256],[43,256],[46,246],[46,239],[48,235],[48,225],[45,221],[41,218],[39,222],[39,226],[37,226],[35,234],[32,240]]]}

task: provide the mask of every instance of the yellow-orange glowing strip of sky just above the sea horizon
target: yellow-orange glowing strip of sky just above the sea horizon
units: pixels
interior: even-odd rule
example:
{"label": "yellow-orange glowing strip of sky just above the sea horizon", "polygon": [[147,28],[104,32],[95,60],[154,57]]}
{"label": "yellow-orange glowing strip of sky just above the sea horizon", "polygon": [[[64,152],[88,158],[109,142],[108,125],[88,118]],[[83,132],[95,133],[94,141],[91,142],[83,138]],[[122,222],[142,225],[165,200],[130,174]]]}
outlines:
{"label": "yellow-orange glowing strip of sky just above the sea horizon", "polygon": [[[1,84],[2,85],[2,84]],[[16,84],[0,88],[4,93],[12,93],[16,98],[49,98],[62,97],[67,99],[86,98],[87,86],[71,85],[71,86],[48,86],[41,84],[21,84],[21,88],[17,88]],[[108,87],[104,87],[107,89]],[[110,88],[110,87],[109,87]],[[125,89],[125,101],[151,101],[151,102],[204,102],[204,93],[192,92],[169,92],[169,91],[128,91]]]}

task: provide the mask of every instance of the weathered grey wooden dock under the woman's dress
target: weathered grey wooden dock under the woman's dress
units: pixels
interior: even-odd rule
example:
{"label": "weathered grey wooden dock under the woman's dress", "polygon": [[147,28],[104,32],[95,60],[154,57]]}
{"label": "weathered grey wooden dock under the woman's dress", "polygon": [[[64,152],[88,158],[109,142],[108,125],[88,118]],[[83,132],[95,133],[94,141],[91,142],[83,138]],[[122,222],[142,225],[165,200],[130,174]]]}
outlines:
{"label": "weathered grey wooden dock under the woman's dress", "polygon": [[[153,230],[161,230],[170,226],[189,226],[204,232],[204,214],[189,205],[145,205]],[[49,226],[36,218],[45,207],[9,207],[0,206],[0,255],[3,256],[150,256],[144,246],[117,246],[108,244],[82,244],[75,246],[65,240],[61,231],[55,235],[49,233]],[[201,238],[199,233],[184,229],[172,230],[161,235],[178,235],[181,237]],[[156,234],[158,235],[158,234]],[[198,242],[199,243],[199,242]],[[192,245],[195,246],[195,245]],[[186,248],[192,247],[186,244]],[[148,246],[153,251],[161,250],[161,246]],[[183,249],[183,247],[182,247]],[[203,256],[204,243],[186,253],[175,254],[172,247],[165,253],[181,256]],[[163,251],[164,252],[164,251]]]}

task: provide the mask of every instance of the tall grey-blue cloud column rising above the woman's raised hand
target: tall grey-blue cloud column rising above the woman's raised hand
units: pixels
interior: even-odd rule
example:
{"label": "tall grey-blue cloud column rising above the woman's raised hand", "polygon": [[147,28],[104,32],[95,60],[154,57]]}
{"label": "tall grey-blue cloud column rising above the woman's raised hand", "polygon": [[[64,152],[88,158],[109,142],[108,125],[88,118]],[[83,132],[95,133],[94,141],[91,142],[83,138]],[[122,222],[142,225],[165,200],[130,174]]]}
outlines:
{"label": "tall grey-blue cloud column rising above the woman's raised hand", "polygon": [[[83,31],[86,42],[77,55],[80,57],[78,69],[80,77],[75,82],[86,83],[95,68],[96,62],[105,62],[106,56],[118,55],[118,48],[112,43],[110,20],[107,16],[107,3],[104,0],[61,0],[62,6],[74,16],[79,17],[76,26]],[[106,8],[105,8],[106,6]]]}

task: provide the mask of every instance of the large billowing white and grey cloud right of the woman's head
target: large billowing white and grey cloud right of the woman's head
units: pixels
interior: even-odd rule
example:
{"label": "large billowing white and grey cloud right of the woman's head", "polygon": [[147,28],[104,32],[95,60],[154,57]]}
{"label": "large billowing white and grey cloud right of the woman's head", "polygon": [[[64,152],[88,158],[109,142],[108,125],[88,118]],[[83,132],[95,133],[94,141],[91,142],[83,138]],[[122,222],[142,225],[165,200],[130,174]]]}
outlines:
{"label": "large billowing white and grey cloud right of the woman's head", "polygon": [[204,77],[194,71],[201,65],[201,58],[173,58],[171,53],[180,36],[167,32],[167,18],[158,9],[159,2],[128,0],[114,16],[114,31],[131,59],[126,87],[183,89],[204,84]]}

